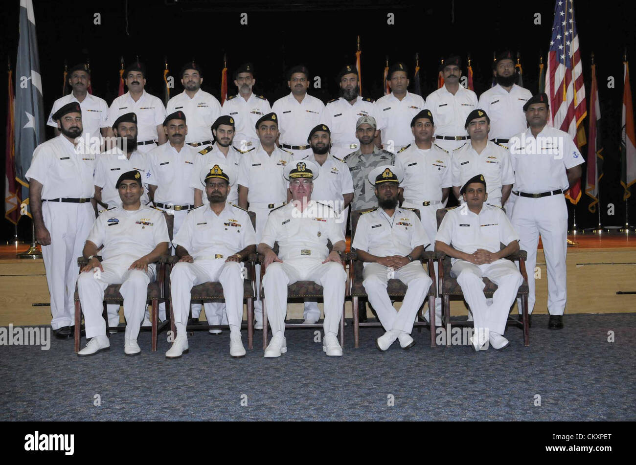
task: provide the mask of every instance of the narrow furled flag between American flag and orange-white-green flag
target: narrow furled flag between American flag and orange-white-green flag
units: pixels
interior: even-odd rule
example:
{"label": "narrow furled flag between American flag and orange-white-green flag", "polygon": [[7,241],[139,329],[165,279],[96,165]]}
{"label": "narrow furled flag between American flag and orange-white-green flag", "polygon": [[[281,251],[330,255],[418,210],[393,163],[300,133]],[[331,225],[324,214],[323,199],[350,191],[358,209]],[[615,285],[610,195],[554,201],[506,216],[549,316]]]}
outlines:
{"label": "narrow furled flag between American flag and orange-white-green flag", "polygon": [[598,203],[598,182],[603,177],[603,151],[600,138],[600,106],[598,105],[598,87],[596,80],[596,65],[592,54],[592,86],[590,90],[590,126],[588,133],[588,175],[585,185],[585,193],[591,198],[588,210],[596,213]]}

